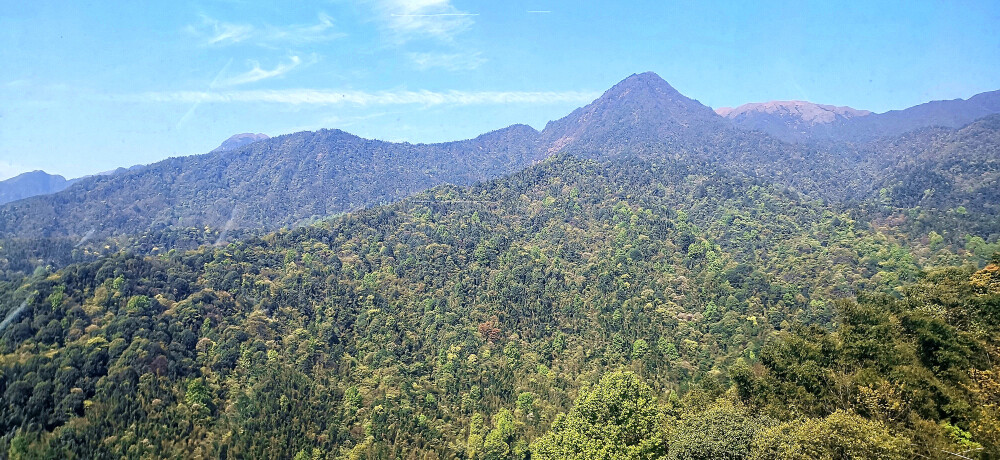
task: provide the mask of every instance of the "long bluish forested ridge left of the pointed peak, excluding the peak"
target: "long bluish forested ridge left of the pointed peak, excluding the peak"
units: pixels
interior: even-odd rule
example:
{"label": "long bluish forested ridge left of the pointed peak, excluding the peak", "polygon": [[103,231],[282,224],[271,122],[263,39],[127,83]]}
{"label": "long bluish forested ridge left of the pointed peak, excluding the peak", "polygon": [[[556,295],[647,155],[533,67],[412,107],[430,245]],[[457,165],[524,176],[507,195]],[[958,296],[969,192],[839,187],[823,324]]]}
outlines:
{"label": "long bluish forested ridge left of the pointed peak, excluding the peak", "polygon": [[476,139],[395,144],[339,130],[171,158],[91,177],[64,193],[0,207],[0,235],[109,236],[167,227],[273,229],[392,201],[445,182],[527,166],[538,133],[515,125]]}

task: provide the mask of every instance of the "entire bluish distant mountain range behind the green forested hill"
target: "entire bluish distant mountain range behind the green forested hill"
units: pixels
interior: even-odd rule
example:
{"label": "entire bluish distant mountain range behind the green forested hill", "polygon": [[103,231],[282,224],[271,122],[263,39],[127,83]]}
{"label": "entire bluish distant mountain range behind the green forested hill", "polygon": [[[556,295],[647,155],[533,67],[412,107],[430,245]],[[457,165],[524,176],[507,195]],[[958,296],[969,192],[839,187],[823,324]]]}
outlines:
{"label": "entire bluish distant mountain range behind the green forested hill", "polygon": [[[499,177],[560,152],[705,165],[818,198],[861,200],[892,178],[899,182],[901,171],[913,171],[906,160],[921,155],[921,145],[885,139],[916,128],[966,124],[1000,111],[998,98],[1000,92],[983,93],[885,114],[807,102],[714,111],[647,72],[626,78],[541,132],[514,125],[441,144],[382,142],[339,130],[274,138],[238,134],[208,154],[88,177],[56,194],[0,206],[0,237],[112,236],[204,226],[274,229],[442,183]],[[975,129],[992,132],[997,126]],[[873,142],[877,139],[882,141]],[[947,132],[935,139],[968,142]],[[996,136],[982,139],[987,144],[978,151],[996,151],[991,150],[997,148]],[[966,150],[950,151],[962,161]],[[983,172],[972,169],[958,175]],[[893,187],[900,189],[898,183]]]}

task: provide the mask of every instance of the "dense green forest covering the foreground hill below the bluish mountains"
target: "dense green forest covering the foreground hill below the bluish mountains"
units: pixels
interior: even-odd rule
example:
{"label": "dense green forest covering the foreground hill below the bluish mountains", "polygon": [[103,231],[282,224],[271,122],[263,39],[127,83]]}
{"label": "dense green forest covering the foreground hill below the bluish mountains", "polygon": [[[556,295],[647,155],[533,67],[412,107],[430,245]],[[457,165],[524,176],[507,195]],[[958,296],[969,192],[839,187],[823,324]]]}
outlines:
{"label": "dense green forest covering the foreground hill below the bluish mountains", "polygon": [[[928,205],[560,155],[219,245],[149,234],[0,282],[0,441],[11,458],[990,458],[1000,245],[945,231],[990,228],[978,211]],[[183,238],[204,245],[152,251]]]}

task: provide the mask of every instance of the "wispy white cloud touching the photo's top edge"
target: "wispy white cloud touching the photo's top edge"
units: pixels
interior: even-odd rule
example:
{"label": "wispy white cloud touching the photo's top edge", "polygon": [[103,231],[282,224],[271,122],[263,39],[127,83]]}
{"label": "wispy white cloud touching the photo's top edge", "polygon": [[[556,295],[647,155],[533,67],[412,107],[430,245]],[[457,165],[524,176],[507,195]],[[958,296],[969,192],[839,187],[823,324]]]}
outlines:
{"label": "wispy white cloud touching the photo's top edge", "polygon": [[394,40],[414,38],[451,41],[468,29],[476,13],[461,11],[451,0],[377,0],[376,8]]}

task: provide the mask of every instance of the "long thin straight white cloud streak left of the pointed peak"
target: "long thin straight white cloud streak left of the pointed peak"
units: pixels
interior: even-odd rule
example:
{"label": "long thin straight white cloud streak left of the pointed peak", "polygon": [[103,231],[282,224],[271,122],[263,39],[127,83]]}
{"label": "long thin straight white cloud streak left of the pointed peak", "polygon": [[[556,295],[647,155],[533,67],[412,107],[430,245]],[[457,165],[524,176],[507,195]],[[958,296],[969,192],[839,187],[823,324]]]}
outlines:
{"label": "long thin straight white cloud streak left of the pointed peak", "polygon": [[600,96],[590,91],[332,91],[319,89],[176,91],[126,96],[147,103],[270,103],[284,105],[489,105],[585,103]]}

